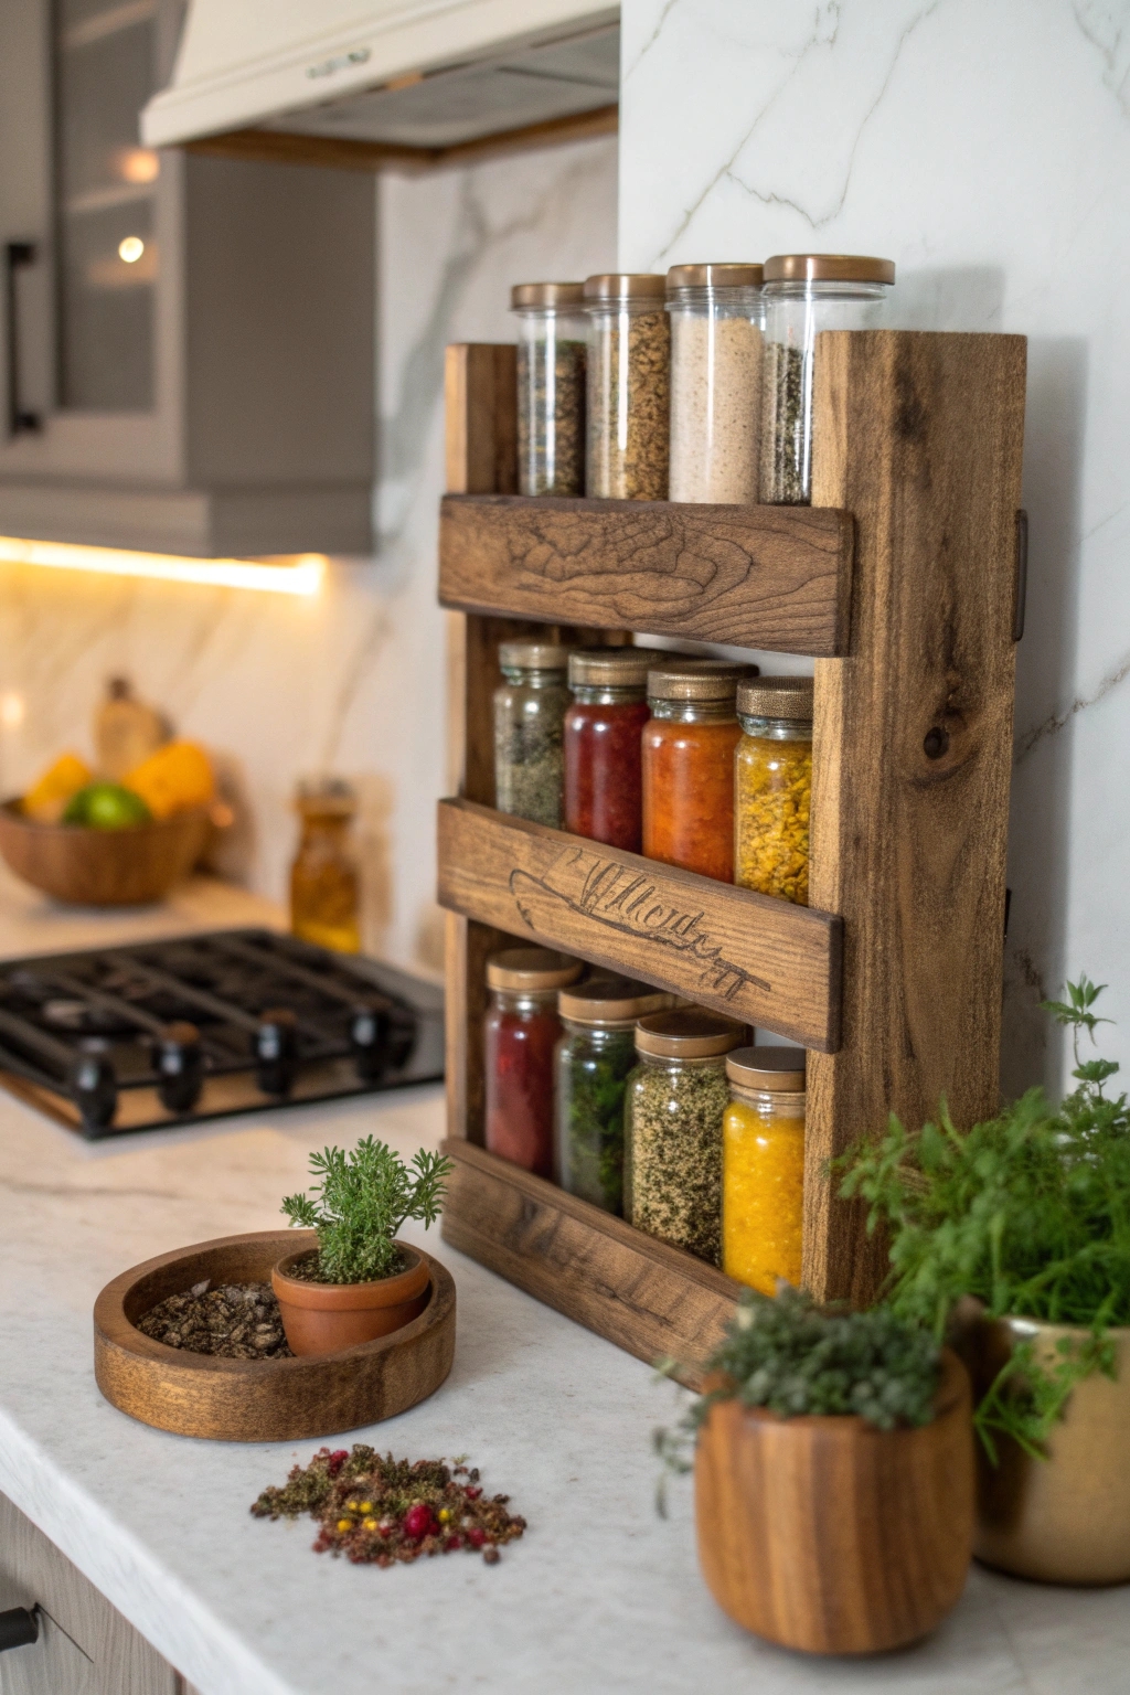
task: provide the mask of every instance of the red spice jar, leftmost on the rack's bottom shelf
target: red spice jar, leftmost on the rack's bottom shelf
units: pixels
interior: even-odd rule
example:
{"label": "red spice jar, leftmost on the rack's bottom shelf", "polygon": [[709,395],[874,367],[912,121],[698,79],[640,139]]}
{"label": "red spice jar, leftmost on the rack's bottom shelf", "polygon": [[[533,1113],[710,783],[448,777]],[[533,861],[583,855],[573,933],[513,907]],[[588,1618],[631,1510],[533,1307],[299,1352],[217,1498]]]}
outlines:
{"label": "red spice jar, leftmost on the rack's bottom shelf", "polygon": [[507,948],[486,961],[486,1148],[552,1176],[557,990],[584,966],[547,948]]}

